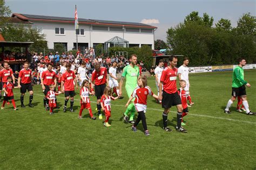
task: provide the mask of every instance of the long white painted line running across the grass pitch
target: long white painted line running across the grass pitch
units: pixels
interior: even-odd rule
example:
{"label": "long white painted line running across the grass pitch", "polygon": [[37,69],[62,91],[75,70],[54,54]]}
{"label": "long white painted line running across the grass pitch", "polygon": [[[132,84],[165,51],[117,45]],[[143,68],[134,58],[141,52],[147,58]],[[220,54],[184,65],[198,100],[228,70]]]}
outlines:
{"label": "long white painted line running across the grass pitch", "polygon": [[[38,91],[36,91],[38,92]],[[42,91],[39,91],[39,92],[42,92]],[[42,92],[43,93],[43,92]],[[16,93],[16,94],[20,94],[20,93]],[[35,95],[37,96],[44,96],[43,94],[36,94],[34,92]],[[62,98],[62,99],[65,99],[64,97],[59,97],[58,98]],[[75,99],[75,100],[78,100],[80,101],[80,99]],[[91,103],[96,103],[95,101],[91,101]],[[118,106],[118,107],[125,107],[124,105],[114,105],[114,104],[111,104],[112,106]],[[163,112],[163,110],[161,109],[156,109],[156,108],[149,108],[147,107],[147,110],[154,110],[154,111],[160,111],[160,112]],[[176,113],[174,111],[170,111],[172,113]],[[245,121],[245,120],[237,120],[237,119],[230,119],[230,118],[222,118],[222,117],[213,117],[211,115],[202,115],[202,114],[192,114],[192,113],[189,113],[189,115],[192,115],[192,116],[196,116],[196,117],[204,117],[204,118],[211,118],[211,119],[221,119],[221,120],[229,120],[229,121],[237,121],[237,122],[241,122],[241,123],[247,123],[247,124],[256,124],[256,122],[252,122],[252,121]]]}

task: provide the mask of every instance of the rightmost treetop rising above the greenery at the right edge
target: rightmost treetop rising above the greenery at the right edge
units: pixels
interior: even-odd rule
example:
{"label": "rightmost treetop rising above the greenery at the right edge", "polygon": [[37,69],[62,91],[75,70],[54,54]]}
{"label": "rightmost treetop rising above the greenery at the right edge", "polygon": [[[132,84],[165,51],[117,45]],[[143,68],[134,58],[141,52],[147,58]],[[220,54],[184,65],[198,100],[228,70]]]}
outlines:
{"label": "rightmost treetop rising above the greenery at the right edge", "polygon": [[240,35],[256,35],[256,18],[251,13],[245,13],[238,19],[237,32]]}

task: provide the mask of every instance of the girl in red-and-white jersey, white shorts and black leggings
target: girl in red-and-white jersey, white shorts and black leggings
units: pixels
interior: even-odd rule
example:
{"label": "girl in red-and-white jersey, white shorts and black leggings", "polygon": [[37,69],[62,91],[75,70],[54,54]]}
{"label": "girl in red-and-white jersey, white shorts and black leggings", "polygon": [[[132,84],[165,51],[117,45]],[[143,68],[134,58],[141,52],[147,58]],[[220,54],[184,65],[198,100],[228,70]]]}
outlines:
{"label": "girl in red-and-white jersey, white shorts and black leggings", "polygon": [[147,86],[147,78],[146,77],[140,77],[138,79],[138,85],[139,85],[139,87],[134,89],[134,91],[132,92],[132,95],[131,95],[130,99],[127,101],[127,104],[125,105],[125,107],[128,107],[131,100],[133,98],[135,98],[134,105],[138,112],[138,118],[136,119],[135,123],[132,125],[132,130],[134,132],[136,132],[137,125],[139,124],[140,120],[142,120],[142,125],[144,128],[145,135],[150,135],[149,130],[147,130],[147,123],[146,123],[146,116],[145,116],[146,109],[147,109],[147,95],[150,95],[156,99],[158,99],[158,96],[156,96],[156,94],[154,94],[151,91],[150,87]]}

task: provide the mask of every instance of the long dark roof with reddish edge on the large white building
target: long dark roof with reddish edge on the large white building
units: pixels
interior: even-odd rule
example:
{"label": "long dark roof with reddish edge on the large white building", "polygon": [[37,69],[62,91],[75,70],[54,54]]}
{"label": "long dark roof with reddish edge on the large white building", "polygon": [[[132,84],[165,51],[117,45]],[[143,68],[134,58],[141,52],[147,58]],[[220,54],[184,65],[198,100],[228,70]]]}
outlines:
{"label": "long dark roof with reddish edge on the large white building", "polygon": [[[59,23],[75,23],[75,18],[69,17],[55,17],[55,16],[43,16],[43,15],[29,15],[23,13],[12,13],[12,17],[17,17],[23,21],[41,21],[41,22],[59,22]],[[156,26],[151,26],[142,23],[133,22],[119,22],[119,21],[105,21],[99,19],[84,19],[78,18],[79,24],[92,24],[92,25],[109,25],[109,26],[130,26],[138,28],[150,28],[156,29]]]}

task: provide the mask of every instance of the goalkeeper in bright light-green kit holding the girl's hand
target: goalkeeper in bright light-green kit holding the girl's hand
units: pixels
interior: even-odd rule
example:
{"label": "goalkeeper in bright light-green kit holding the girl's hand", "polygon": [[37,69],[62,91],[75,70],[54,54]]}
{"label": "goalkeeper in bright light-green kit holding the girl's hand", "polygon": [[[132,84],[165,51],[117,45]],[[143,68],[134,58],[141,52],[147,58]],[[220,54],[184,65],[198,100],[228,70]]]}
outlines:
{"label": "goalkeeper in bright light-green kit holding the girl's hand", "polygon": [[[126,83],[125,83],[125,90],[127,93],[128,98],[131,97],[132,92],[134,89],[138,86],[137,81],[139,78],[139,67],[137,66],[137,56],[136,55],[131,55],[130,57],[130,64],[125,66],[123,69],[122,77],[120,80],[120,85],[119,85],[119,96],[122,96],[122,85],[124,82],[124,78],[126,78]],[[132,100],[134,101],[134,99]],[[129,112],[131,112],[130,119],[128,117]],[[134,121],[134,114],[136,112],[134,103],[131,103],[125,113],[124,113],[124,120],[126,123],[131,123],[133,124]]]}

